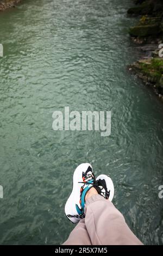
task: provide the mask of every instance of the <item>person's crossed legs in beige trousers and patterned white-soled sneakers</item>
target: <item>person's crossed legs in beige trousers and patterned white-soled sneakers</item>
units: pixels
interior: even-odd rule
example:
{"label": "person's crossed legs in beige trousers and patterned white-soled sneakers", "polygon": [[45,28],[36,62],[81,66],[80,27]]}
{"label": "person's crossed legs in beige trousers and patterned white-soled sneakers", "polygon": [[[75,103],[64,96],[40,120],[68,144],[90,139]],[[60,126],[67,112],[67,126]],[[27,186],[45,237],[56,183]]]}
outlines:
{"label": "person's crossed legs in beige trousers and patterned white-soled sneakers", "polygon": [[95,179],[89,163],[80,164],[73,174],[73,189],[65,205],[67,218],[77,223],[64,245],[142,245],[111,203],[112,180],[101,174]]}

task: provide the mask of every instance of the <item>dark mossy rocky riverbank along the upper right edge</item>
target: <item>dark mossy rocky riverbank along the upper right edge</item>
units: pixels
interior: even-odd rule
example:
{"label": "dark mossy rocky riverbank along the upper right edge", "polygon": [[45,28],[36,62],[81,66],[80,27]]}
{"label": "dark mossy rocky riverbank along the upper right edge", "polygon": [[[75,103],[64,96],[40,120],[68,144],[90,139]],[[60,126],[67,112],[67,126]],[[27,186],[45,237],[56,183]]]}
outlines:
{"label": "dark mossy rocky riverbank along the upper right edge", "polygon": [[163,44],[163,1],[135,0],[134,3],[128,14],[140,16],[140,19],[134,27],[130,27],[129,34],[131,40],[139,44],[142,59],[129,65],[128,69],[163,101],[163,57],[159,57],[159,45]]}

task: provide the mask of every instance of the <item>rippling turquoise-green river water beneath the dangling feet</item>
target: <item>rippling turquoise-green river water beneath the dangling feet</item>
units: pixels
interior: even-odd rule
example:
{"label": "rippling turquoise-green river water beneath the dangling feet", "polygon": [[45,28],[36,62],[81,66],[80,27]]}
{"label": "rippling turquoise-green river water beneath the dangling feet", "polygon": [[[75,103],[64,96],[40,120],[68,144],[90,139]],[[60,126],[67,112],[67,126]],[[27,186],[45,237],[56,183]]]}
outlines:
{"label": "rippling turquoise-green river water beneath the dangling feet", "polygon": [[[163,244],[163,105],[127,65],[139,57],[126,0],[27,0],[0,14],[0,243],[60,244],[79,163],[111,176],[114,204]],[[52,114],[111,111],[111,135],[54,131]]]}

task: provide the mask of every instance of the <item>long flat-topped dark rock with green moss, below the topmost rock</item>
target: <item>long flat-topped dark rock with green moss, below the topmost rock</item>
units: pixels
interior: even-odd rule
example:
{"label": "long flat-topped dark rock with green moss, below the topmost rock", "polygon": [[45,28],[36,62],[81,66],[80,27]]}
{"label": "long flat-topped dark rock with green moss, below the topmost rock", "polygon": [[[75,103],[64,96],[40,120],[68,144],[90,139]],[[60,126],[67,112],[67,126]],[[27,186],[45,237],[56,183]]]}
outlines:
{"label": "long flat-topped dark rock with green moss, below the topmost rock", "polygon": [[156,36],[161,33],[161,28],[159,25],[145,25],[145,26],[135,26],[131,27],[129,34],[131,36]]}

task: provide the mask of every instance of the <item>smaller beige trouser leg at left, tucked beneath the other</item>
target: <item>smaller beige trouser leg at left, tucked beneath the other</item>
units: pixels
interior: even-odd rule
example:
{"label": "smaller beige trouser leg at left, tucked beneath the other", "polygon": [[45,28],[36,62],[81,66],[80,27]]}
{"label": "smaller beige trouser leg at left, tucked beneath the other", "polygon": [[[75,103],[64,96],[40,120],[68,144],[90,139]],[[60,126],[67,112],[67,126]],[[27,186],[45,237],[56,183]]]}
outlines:
{"label": "smaller beige trouser leg at left, tucked beneath the other", "polygon": [[85,227],[84,218],[80,220],[76,227],[71,231],[70,236],[63,245],[92,245]]}

